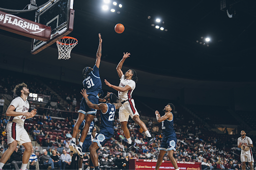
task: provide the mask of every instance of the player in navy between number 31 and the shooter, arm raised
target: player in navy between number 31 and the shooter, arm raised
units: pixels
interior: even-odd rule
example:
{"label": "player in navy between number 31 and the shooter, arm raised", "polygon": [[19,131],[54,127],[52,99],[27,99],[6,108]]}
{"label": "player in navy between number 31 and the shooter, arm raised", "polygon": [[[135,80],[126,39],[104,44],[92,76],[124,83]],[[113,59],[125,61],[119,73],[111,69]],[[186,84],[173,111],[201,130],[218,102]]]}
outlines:
{"label": "player in navy between number 31 and the shooter, arm raised", "polygon": [[86,90],[83,89],[81,94],[90,108],[101,110],[101,114],[100,114],[101,123],[99,127],[100,130],[89,147],[90,158],[94,165],[94,170],[99,170],[97,150],[99,148],[102,149],[105,143],[109,139],[111,139],[111,137],[113,136],[114,113],[115,113],[115,110],[119,109],[122,104],[120,100],[116,97],[116,95],[113,93],[108,93],[104,97],[107,103],[100,103],[100,104],[92,104],[87,98],[88,95],[86,94]]}

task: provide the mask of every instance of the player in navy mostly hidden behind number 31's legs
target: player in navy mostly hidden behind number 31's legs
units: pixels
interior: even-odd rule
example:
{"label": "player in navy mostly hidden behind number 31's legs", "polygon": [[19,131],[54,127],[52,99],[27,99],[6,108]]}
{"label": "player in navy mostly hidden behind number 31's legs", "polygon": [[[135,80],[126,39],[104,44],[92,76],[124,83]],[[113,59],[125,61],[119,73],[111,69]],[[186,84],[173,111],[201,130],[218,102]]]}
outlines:
{"label": "player in navy mostly hidden behind number 31's legs", "polygon": [[[79,126],[76,139],[78,139],[79,133],[80,133],[80,131],[82,132],[82,130],[84,128],[84,125],[85,125],[85,120],[83,120],[81,125]],[[82,155],[89,154],[89,147],[90,147],[90,144],[91,144],[91,135],[92,135],[93,138],[95,138],[95,130],[94,130],[94,122],[93,121],[90,123],[90,127],[89,127],[89,130],[88,130],[87,136],[86,136],[85,140],[82,143]],[[77,143],[78,143],[78,141],[77,141]],[[79,158],[79,160],[78,160],[78,170],[82,169],[82,160],[83,160],[82,158]],[[89,159],[88,162],[89,162],[88,167],[94,168],[94,166],[91,162],[91,159]]]}

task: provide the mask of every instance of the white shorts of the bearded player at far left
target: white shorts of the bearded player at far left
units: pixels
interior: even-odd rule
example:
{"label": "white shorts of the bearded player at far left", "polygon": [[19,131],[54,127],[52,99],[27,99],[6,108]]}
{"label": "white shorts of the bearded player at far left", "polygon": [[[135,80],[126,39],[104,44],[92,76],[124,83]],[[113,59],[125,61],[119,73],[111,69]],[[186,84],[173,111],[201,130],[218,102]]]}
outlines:
{"label": "white shorts of the bearded player at far left", "polygon": [[6,125],[6,132],[7,132],[8,145],[12,143],[14,140],[18,142],[18,145],[31,142],[22,124],[15,123],[15,122],[8,122]]}

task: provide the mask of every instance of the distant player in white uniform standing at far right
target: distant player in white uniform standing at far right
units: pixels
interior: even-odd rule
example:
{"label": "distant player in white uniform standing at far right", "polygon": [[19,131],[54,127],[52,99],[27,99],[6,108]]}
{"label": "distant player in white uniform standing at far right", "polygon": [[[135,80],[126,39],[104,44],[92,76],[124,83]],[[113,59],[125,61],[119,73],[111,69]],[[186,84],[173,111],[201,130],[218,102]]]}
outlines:
{"label": "distant player in white uniform standing at far right", "polygon": [[251,148],[253,147],[252,141],[249,137],[246,137],[246,133],[241,131],[241,137],[237,139],[238,148],[241,148],[241,162],[242,162],[242,170],[245,170],[245,162],[248,162],[250,165],[250,170],[253,170],[252,163],[254,162],[252,157]]}

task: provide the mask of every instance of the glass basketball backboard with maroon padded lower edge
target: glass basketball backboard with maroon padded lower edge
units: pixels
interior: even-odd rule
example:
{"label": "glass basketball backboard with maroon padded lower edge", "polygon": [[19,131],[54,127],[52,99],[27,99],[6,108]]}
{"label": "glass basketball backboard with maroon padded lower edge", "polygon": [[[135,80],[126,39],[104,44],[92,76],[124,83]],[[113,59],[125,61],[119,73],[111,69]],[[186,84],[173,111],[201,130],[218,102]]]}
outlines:
{"label": "glass basketball backboard with maroon padded lower edge", "polygon": [[51,27],[48,41],[32,39],[31,53],[37,54],[73,30],[73,0],[52,0],[35,12],[35,22]]}

